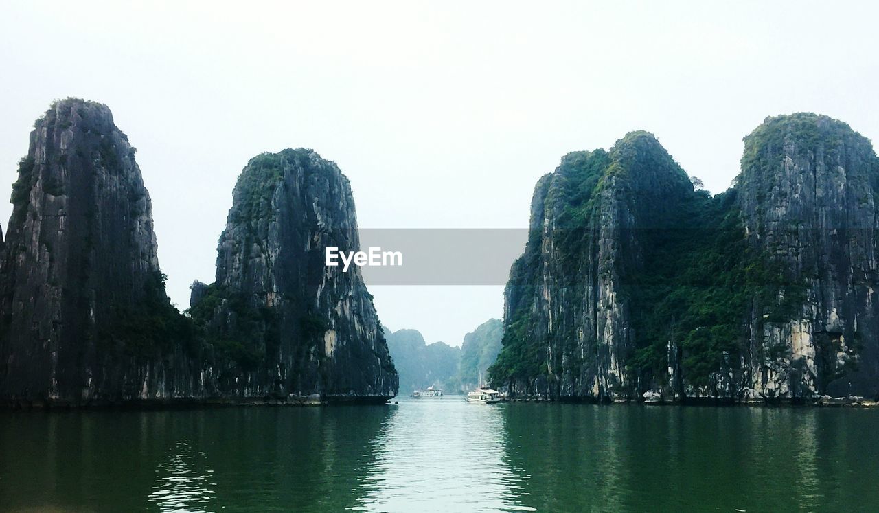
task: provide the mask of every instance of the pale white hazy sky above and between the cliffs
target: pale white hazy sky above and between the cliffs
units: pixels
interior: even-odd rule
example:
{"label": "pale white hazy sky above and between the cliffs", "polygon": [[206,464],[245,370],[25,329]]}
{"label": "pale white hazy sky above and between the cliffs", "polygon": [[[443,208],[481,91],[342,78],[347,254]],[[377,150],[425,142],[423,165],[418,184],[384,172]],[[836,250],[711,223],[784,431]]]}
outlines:
{"label": "pale white hazy sky above and between the cliffs", "polygon": [[[181,308],[193,279],[213,281],[232,187],[263,151],[338,163],[361,228],[525,228],[537,178],[631,130],[711,191],[768,115],[821,112],[879,137],[877,3],[246,5],[0,7],[2,194],[54,98],[109,105]],[[10,213],[0,204],[4,232]],[[502,315],[500,286],[370,291],[385,325],[428,342]]]}

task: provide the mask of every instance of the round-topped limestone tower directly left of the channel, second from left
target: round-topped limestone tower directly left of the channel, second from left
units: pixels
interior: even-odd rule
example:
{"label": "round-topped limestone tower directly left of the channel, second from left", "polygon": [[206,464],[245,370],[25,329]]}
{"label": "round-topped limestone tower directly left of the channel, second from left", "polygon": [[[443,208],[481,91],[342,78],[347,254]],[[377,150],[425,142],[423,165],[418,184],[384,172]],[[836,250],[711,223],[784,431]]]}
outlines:
{"label": "round-topped limestone tower directly left of the channel, second from left", "polygon": [[372,296],[325,249],[360,249],[354,201],[335,163],[309,149],[251,159],[233,193],[213,285],[190,312],[221,358],[223,390],[385,401],[397,374]]}

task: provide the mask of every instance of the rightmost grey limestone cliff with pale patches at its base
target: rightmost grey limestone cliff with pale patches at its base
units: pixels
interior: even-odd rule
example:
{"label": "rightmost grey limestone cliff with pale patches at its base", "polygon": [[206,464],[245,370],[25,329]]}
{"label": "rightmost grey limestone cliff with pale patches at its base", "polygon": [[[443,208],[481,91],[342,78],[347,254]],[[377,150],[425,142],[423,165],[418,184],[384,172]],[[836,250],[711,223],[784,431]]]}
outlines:
{"label": "rightmost grey limestone cliff with pale patches at its base", "polygon": [[748,239],[798,285],[788,319],[759,322],[765,305],[752,309],[749,394],[879,394],[877,179],[870,141],[825,116],[766,119],[745,138]]}

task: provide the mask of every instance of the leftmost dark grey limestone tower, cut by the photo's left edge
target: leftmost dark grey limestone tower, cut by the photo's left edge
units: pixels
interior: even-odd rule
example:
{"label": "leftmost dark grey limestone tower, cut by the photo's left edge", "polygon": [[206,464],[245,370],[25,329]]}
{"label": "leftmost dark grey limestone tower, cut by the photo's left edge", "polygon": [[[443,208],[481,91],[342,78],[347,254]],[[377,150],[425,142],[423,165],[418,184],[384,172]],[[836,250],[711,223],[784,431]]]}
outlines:
{"label": "leftmost dark grey limestone tower, cut by the photo's left edge", "polygon": [[0,397],[78,404],[174,394],[190,369],[168,336],[185,320],[164,293],[149,194],[110,110],[55,103],[34,125],[11,202]]}

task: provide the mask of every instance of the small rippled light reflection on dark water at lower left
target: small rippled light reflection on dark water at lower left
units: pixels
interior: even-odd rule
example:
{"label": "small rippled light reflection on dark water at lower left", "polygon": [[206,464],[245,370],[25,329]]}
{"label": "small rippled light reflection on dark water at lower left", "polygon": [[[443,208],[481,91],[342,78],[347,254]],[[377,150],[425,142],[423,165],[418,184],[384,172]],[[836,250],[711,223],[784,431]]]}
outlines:
{"label": "small rippled light reflection on dark water at lower left", "polygon": [[214,471],[204,462],[205,453],[185,440],[174,445],[168,460],[156,468],[156,484],[147,497],[161,511],[207,511],[214,495]]}

